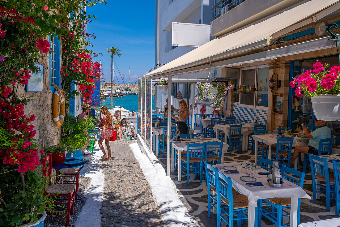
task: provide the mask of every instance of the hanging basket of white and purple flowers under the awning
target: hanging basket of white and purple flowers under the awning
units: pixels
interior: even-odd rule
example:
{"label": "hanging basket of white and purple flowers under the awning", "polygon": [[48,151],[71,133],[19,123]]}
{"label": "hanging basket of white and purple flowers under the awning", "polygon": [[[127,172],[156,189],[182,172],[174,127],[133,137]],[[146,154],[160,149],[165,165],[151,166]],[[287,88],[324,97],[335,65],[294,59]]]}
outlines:
{"label": "hanging basket of white and purple flowers under the awning", "polygon": [[195,101],[202,103],[206,99],[210,99],[210,106],[213,109],[220,111],[224,104],[224,96],[227,94],[230,87],[231,86],[227,86],[224,82],[197,82],[197,95],[195,97]]}

